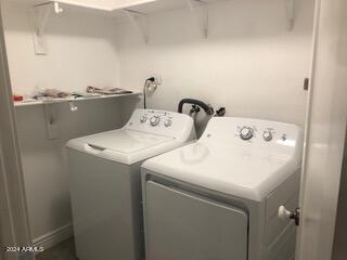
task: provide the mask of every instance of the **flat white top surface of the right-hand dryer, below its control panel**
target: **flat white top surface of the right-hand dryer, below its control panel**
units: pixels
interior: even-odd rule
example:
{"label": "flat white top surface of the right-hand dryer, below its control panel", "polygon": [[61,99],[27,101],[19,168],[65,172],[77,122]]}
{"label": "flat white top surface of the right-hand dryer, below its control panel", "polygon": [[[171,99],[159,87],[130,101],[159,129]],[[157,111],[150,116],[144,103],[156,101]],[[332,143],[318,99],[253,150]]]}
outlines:
{"label": "flat white top surface of the right-hand dryer, below its control panel", "polygon": [[202,142],[146,160],[142,168],[176,180],[260,202],[300,165],[294,157]]}

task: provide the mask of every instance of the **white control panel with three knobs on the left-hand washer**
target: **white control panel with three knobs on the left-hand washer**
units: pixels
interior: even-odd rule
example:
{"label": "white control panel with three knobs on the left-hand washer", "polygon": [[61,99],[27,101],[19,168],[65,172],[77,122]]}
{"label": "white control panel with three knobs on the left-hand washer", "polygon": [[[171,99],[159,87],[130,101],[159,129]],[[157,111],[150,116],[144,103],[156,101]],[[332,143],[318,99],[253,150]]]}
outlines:
{"label": "white control panel with three knobs on the left-hand washer", "polygon": [[178,139],[187,134],[195,138],[190,116],[167,110],[136,109],[125,128]]}

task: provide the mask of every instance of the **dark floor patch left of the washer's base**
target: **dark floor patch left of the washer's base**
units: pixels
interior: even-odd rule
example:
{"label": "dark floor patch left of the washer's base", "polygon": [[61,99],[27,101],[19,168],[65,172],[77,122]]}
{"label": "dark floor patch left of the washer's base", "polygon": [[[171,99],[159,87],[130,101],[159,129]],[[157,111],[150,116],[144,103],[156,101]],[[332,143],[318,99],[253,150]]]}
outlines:
{"label": "dark floor patch left of the washer's base", "polygon": [[74,239],[69,238],[36,257],[36,260],[77,260]]}

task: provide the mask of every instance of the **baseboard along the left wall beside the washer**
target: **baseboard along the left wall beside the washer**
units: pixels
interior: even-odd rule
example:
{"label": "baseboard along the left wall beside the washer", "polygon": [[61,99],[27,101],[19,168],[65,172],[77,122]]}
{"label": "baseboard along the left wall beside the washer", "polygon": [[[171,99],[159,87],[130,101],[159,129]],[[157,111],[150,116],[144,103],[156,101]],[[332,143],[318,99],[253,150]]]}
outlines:
{"label": "baseboard along the left wall beside the washer", "polygon": [[46,235],[42,235],[33,240],[34,246],[43,247],[44,250],[57,245],[59,243],[74,235],[73,224],[66,224]]}

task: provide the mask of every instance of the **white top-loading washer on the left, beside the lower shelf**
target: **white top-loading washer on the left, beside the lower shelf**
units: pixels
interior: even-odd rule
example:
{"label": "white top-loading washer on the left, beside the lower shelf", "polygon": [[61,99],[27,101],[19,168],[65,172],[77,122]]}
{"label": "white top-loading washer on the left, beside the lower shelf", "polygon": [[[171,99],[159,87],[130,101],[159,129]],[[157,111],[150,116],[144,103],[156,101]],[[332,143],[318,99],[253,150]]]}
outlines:
{"label": "white top-loading washer on the left, beside the lower shelf", "polygon": [[137,109],[121,129],[67,143],[79,260],[142,259],[140,166],[193,139],[191,117]]}

